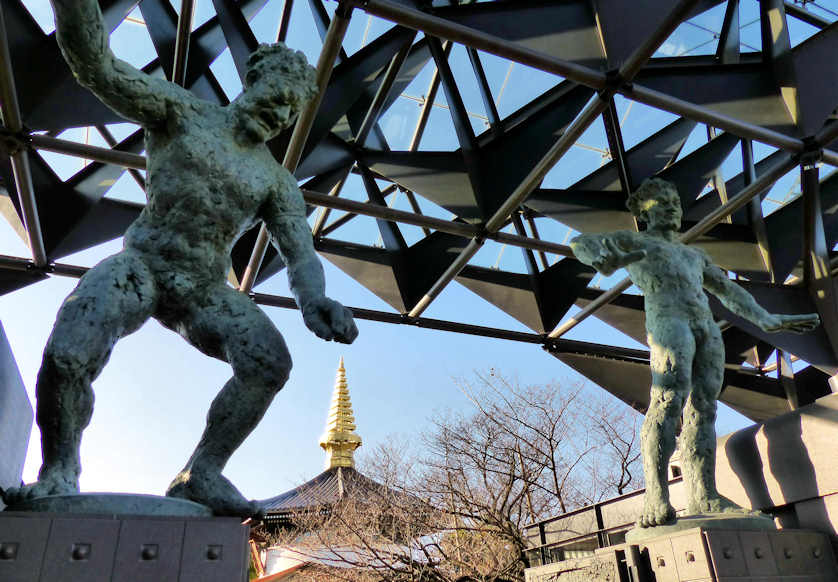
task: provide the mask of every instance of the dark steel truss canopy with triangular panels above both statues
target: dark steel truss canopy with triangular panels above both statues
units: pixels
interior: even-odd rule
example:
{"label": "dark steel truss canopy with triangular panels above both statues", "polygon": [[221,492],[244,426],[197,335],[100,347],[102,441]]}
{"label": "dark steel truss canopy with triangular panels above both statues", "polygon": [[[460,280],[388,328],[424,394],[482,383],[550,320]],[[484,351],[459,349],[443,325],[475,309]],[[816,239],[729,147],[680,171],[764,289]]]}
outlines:
{"label": "dark steel truss canopy with triangular panels above both statues", "polygon": [[[111,31],[145,27],[156,52],[147,73],[222,105],[235,95],[211,65],[229,49],[243,74],[266,6],[281,6],[271,40],[314,23],[320,95],[269,145],[303,188],[322,257],[389,306],[355,307],[357,317],[541,345],[642,411],[648,351],[564,337],[593,315],[643,344],[642,297],[566,244],[576,232],[642,228],[627,192],[659,176],[678,186],[682,240],[769,310],[823,321],[770,335],[714,301],[727,350],[721,400],[763,420],[830,391],[838,15],[821,0],[213,0],[197,26],[192,0],[100,4]],[[145,159],[142,132],[114,136],[124,120],[76,84],[26,3],[0,8],[0,211],[31,249],[0,258],[8,293],[81,276],[61,259],[122,235],[142,204],[113,186],[127,175],[144,187]],[[365,25],[360,43],[352,21]],[[696,34],[703,44],[682,46]],[[88,163],[62,179],[47,152]],[[256,229],[238,241],[231,284],[251,292],[283,270],[266,243]],[[480,302],[474,313],[462,306],[461,321],[423,316],[455,285],[520,327],[487,325]]]}

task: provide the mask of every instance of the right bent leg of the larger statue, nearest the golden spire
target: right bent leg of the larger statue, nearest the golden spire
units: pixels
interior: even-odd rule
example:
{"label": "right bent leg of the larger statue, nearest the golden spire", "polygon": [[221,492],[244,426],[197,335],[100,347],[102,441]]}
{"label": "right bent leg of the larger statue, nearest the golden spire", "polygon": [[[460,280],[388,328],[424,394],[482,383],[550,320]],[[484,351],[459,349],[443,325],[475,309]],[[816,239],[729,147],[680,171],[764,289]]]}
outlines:
{"label": "right bent leg of the larger statue, nearest the golden spire", "polygon": [[219,286],[202,303],[179,331],[205,354],[229,362],[233,377],[210,405],[204,434],[166,495],[203,503],[216,515],[255,515],[258,505],[221,471],[285,384],[291,356],[279,331],[246,295]]}

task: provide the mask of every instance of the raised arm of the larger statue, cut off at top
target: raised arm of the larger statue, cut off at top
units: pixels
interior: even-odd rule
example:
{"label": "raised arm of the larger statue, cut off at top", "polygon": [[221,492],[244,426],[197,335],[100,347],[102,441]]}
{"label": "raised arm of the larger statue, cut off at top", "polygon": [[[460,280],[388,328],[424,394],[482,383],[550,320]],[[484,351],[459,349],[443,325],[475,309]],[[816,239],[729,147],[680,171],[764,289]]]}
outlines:
{"label": "raised arm of the larger statue, cut off at top", "polygon": [[58,45],[78,82],[119,115],[143,126],[163,123],[172,100],[189,99],[173,83],[117,59],[96,0],[51,0]]}

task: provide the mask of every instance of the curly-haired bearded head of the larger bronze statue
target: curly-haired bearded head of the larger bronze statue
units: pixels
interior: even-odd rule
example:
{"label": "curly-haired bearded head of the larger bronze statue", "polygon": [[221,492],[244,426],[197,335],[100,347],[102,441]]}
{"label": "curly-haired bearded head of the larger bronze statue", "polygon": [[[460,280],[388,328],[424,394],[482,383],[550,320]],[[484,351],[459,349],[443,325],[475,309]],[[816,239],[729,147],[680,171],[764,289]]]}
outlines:
{"label": "curly-haired bearded head of the larger bronze statue", "polygon": [[282,43],[261,44],[247,60],[244,91],[235,102],[238,126],[252,141],[267,141],[316,94],[315,70],[303,53]]}

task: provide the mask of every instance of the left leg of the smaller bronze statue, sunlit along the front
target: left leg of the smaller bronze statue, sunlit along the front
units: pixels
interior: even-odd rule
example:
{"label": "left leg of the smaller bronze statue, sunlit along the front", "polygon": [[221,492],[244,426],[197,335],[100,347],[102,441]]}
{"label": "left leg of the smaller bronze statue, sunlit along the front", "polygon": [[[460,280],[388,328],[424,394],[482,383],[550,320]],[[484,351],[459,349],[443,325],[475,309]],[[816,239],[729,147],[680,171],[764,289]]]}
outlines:
{"label": "left leg of the smaller bronze statue, sunlit along the front", "polygon": [[675,432],[684,400],[690,390],[690,371],[695,338],[682,320],[647,322],[652,370],[649,410],[640,439],[643,450],[643,475],[646,478],[640,527],[663,525],[675,519],[669,503],[667,468],[675,452]]}

